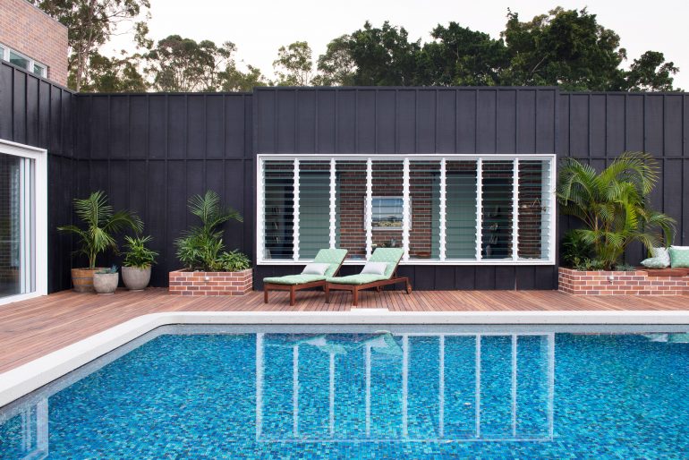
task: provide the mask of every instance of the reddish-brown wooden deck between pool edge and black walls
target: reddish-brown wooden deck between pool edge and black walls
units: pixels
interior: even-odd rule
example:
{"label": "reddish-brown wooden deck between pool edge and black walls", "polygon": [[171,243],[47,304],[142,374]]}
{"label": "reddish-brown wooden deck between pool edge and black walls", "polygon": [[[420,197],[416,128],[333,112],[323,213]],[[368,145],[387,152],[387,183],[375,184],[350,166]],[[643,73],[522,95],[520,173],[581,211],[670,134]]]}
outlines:
{"label": "reddish-brown wooden deck between pool edge and black walls", "polygon": [[[182,297],[164,289],[114,295],[64,291],[0,306],[0,372],[111,328],[128,319],[160,311],[348,311],[351,296],[302,292],[289,306],[288,295],[263,293],[243,297]],[[689,310],[689,296],[576,297],[557,291],[401,291],[364,292],[359,308],[390,311],[558,311]]]}

